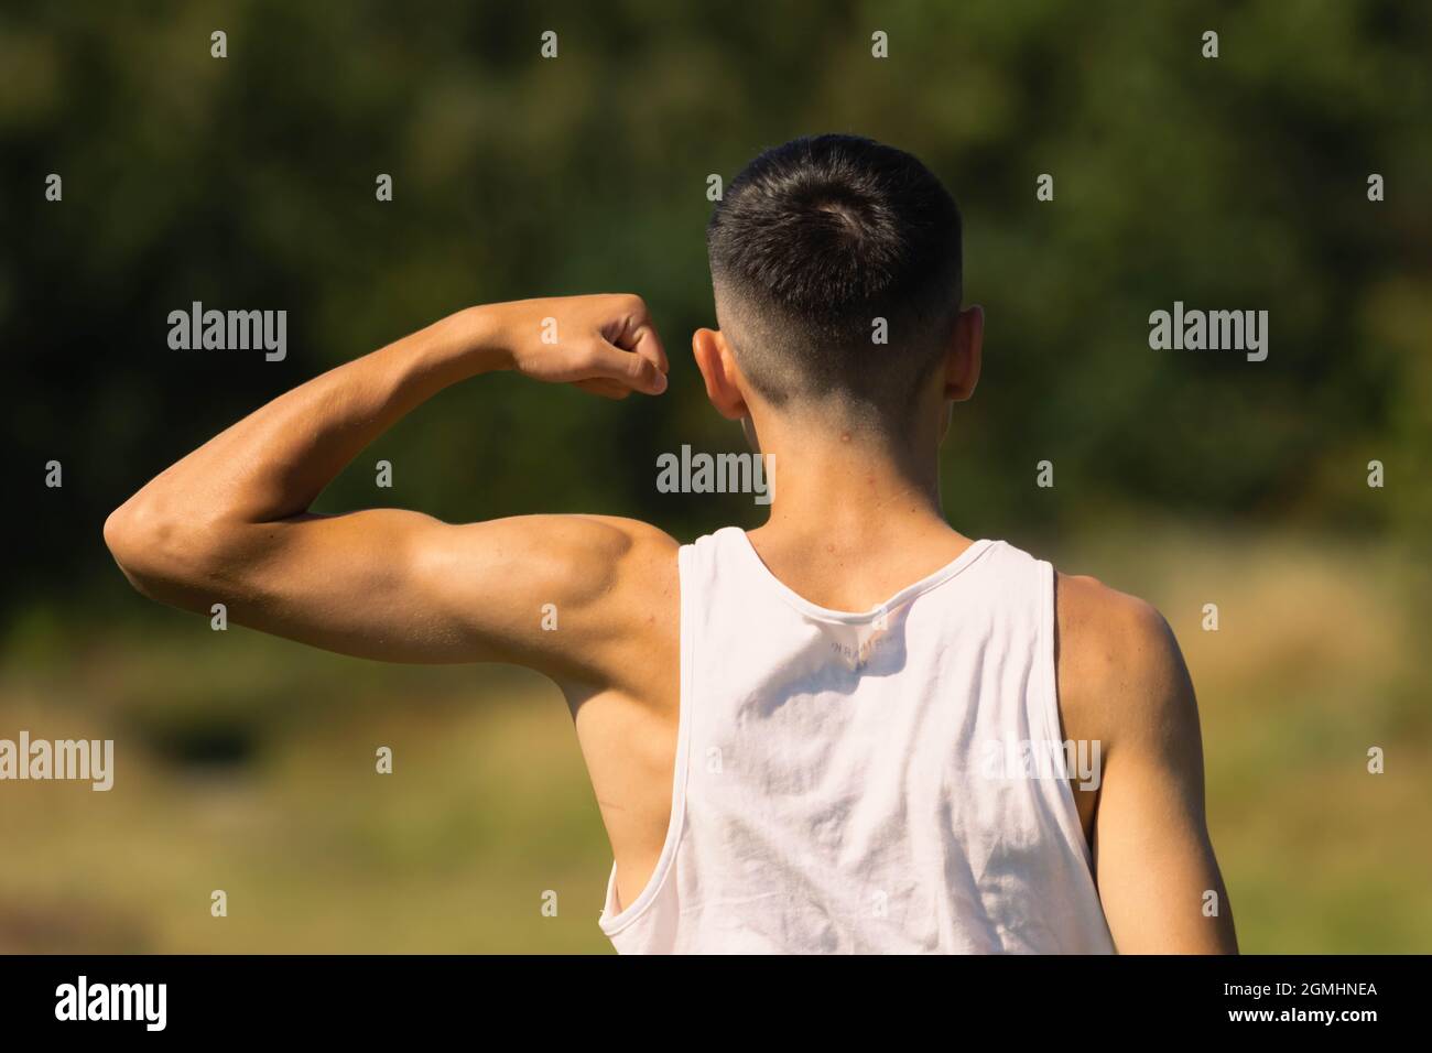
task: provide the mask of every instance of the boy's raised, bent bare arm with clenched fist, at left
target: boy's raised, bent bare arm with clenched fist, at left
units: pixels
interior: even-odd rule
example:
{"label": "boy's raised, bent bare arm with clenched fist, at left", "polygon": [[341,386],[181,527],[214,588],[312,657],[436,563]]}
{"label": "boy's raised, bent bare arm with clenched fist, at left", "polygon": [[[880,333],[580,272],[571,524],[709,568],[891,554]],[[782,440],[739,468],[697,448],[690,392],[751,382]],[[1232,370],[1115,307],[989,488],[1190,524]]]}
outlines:
{"label": "boy's raised, bent bare arm with clenched fist, at left", "polygon": [[[546,319],[554,344],[541,340]],[[666,368],[637,297],[470,308],[219,433],[120,506],[105,540],[145,595],[200,612],[225,603],[231,620],[263,632],[365,658],[599,678],[626,619],[626,572],[659,570],[674,552],[662,532],[594,516],[451,526],[397,509],[308,509],[374,438],[457,381],[517,370],[623,398],[663,391]],[[546,603],[561,607],[563,632],[533,632]]]}

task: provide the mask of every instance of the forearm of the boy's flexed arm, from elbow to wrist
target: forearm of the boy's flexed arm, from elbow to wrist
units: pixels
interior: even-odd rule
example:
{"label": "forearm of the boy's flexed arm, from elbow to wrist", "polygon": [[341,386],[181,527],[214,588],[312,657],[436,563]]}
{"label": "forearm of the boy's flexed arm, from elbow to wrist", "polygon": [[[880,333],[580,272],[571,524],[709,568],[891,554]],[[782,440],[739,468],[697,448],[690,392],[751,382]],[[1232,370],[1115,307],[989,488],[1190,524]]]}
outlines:
{"label": "forearm of the boy's flexed arm, from elbow to wrist", "polygon": [[115,516],[215,527],[296,516],[417,405],[500,365],[495,311],[460,311],[279,395],[166,468]]}

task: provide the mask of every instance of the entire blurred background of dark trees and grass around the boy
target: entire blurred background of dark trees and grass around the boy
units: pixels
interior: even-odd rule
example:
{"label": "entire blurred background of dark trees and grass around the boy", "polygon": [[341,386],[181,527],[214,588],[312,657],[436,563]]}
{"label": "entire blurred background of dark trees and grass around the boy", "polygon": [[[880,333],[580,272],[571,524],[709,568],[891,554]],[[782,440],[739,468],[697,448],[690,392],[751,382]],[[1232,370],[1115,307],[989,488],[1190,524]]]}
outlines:
{"label": "entire blurred background of dark trees and grass around the boy", "polygon": [[[755,526],[749,499],[654,486],[683,443],[743,448],[687,351],[713,322],[706,181],[841,130],[916,153],[965,213],[988,335],[951,521],[1179,633],[1243,948],[1432,951],[1429,113],[1432,9],[1370,0],[0,4],[0,738],[117,754],[107,794],[0,784],[0,950],[607,950],[556,688],[212,632],[130,592],[100,526],[324,368],[468,304],[597,291],[647,298],[663,398],[485,378],[319,509]],[[1150,351],[1176,299],[1269,311],[1267,361]],[[172,351],[193,301],[286,309],[288,358]]]}

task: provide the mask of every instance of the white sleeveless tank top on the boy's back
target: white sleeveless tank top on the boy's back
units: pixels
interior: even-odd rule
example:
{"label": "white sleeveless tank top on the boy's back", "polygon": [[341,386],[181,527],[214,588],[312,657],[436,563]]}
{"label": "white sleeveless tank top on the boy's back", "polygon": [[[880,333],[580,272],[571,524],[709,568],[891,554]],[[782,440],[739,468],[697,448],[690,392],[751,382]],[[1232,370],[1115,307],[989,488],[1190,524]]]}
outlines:
{"label": "white sleeveless tank top on the boy's back", "polygon": [[1057,765],[1054,569],[981,540],[865,613],[682,546],[680,719],[630,953],[1110,953]]}

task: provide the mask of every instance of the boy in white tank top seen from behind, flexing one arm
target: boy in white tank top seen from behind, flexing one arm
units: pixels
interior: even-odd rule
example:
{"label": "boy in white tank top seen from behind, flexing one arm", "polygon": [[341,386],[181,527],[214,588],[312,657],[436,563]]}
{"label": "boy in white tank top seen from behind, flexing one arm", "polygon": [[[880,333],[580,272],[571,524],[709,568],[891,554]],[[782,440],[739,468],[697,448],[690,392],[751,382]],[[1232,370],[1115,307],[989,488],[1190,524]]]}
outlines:
{"label": "boy in white tank top seen from behind, flexing one arm", "polygon": [[556,681],[621,951],[1236,950],[1164,620],[945,523],[938,451],[984,328],[948,192],[901,150],[799,139],[732,182],[707,242],[720,328],[692,350],[773,454],[758,530],[679,546],[603,516],[308,511],[398,418],[493,370],[659,395],[646,305],[596,295],[470,308],[308,381],[149,483],[106,543],[165,603]]}

